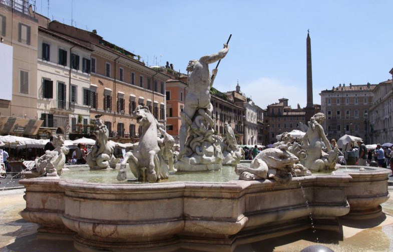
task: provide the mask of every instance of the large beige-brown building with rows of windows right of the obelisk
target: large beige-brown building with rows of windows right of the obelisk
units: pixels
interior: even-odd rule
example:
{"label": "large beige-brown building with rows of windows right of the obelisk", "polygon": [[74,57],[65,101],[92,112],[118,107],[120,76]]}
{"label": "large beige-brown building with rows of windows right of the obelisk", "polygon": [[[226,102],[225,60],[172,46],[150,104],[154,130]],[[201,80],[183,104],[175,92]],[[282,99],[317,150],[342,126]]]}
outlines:
{"label": "large beige-brown building with rows of windows right of the obelisk", "polygon": [[338,139],[344,134],[361,137],[366,144],[371,143],[366,134],[366,115],[373,104],[373,90],[376,85],[343,84],[331,90],[323,90],[321,112],[325,114],[325,133],[328,139]]}

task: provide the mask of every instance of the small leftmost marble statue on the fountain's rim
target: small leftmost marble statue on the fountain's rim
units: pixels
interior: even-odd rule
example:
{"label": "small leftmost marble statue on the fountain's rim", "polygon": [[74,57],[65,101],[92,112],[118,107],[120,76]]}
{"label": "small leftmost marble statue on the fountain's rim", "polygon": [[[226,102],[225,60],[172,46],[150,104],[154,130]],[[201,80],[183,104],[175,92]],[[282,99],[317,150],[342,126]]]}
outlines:
{"label": "small leftmost marble statue on the fountain's rim", "polygon": [[64,138],[62,136],[53,137],[54,150],[47,150],[44,155],[36,158],[36,166],[32,169],[26,169],[26,172],[31,171],[31,174],[36,177],[42,176],[59,176],[66,163],[66,154],[70,151],[64,145]]}

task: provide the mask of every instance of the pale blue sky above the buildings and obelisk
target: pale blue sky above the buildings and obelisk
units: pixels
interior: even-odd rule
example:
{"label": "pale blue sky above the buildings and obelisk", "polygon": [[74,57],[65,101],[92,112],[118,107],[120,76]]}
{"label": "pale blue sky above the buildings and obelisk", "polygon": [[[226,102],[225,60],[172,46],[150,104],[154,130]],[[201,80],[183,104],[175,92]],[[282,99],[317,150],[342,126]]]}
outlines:
{"label": "pale blue sky above the buildings and obelisk", "polygon": [[[71,24],[71,0],[51,0],[49,17]],[[185,72],[191,59],[229,52],[214,86],[241,90],[262,108],[279,98],[306,105],[306,36],[310,29],[314,103],[339,83],[391,78],[393,1],[73,1],[78,28],[98,34],[149,65],[162,55]],[[48,15],[48,1],[37,0]],[[74,23],[75,26],[75,23]],[[214,66],[211,66],[213,68]]]}

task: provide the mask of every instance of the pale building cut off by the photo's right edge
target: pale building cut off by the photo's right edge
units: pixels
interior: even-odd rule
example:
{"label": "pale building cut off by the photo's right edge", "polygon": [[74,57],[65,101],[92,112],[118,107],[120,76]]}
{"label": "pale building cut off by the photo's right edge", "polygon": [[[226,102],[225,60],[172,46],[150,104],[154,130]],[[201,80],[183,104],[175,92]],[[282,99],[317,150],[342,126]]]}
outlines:
{"label": "pale building cut off by the photo's right edge", "polygon": [[[390,71],[393,77],[393,69]],[[379,83],[372,91],[374,102],[365,118],[370,143],[393,143],[393,82]]]}

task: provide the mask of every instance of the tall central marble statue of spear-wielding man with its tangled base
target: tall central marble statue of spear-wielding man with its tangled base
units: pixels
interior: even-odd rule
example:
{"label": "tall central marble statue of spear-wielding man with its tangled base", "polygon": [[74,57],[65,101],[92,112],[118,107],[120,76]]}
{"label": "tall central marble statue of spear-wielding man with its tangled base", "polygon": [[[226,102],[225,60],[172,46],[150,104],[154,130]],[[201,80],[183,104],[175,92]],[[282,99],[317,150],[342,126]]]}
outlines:
{"label": "tall central marble statue of spear-wielding man with its tangled base", "polygon": [[192,60],[187,66],[188,93],[180,113],[180,154],[175,168],[182,171],[220,169],[223,160],[220,138],[214,135],[210,89],[217,69],[210,74],[209,64],[223,59],[228,45],[212,55]]}

